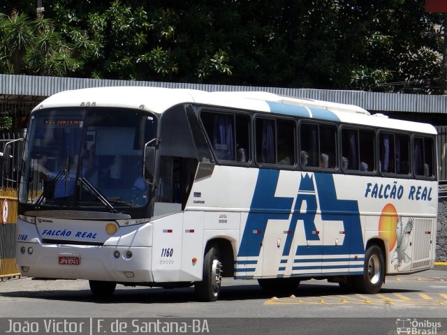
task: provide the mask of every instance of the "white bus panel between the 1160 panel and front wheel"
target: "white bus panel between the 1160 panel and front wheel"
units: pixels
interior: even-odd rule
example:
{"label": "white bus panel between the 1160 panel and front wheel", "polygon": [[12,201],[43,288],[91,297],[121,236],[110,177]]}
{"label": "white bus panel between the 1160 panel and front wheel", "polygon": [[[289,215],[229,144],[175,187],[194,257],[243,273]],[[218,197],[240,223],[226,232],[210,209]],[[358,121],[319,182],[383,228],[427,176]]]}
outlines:
{"label": "white bus panel between the 1160 panel and front wheel", "polygon": [[201,281],[203,269],[203,211],[185,211],[182,230],[180,281]]}

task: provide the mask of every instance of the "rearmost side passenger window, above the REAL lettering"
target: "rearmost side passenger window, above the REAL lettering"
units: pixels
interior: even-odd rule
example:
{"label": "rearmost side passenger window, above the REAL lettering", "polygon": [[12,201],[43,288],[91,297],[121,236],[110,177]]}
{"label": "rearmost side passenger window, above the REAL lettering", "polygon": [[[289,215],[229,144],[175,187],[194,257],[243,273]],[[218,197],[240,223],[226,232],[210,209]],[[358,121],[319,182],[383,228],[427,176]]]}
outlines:
{"label": "rearmost side passenger window, above the REAL lettering", "polygon": [[413,161],[413,169],[416,176],[434,176],[434,142],[432,138],[413,138]]}

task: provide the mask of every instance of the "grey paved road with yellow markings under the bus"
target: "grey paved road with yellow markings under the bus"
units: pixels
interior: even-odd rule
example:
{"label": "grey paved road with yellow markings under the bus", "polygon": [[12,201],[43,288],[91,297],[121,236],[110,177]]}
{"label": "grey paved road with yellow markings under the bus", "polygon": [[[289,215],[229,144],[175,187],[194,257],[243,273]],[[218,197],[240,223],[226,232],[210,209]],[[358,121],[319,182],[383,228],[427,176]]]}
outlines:
{"label": "grey paved road with yellow markings under the bus", "polygon": [[[376,329],[378,320],[373,318],[381,318],[379,323],[384,327],[382,330],[388,332],[390,327],[395,329],[397,318],[416,318],[444,322],[443,331],[447,331],[446,270],[447,267],[437,267],[411,276],[387,277],[383,290],[376,295],[344,294],[337,284],[312,280],[302,282],[291,297],[271,297],[261,290],[256,281],[225,278],[221,297],[214,303],[195,301],[192,288],[163,290],[124,286],[118,286],[112,299],[97,301],[91,296],[87,281],[33,281],[31,278],[21,278],[0,283],[0,317],[120,320],[210,318],[212,326],[219,327],[221,331],[250,329],[255,332],[260,327],[258,330],[265,334],[269,333],[267,330],[270,328],[274,329],[272,334],[299,334],[296,322],[299,322],[300,329],[306,329],[302,326],[309,323],[312,329],[320,331],[314,334],[340,327],[347,327],[347,334],[356,334],[354,331],[365,334],[365,327]],[[252,322],[258,326],[254,327]],[[441,329],[437,330],[440,334]]]}

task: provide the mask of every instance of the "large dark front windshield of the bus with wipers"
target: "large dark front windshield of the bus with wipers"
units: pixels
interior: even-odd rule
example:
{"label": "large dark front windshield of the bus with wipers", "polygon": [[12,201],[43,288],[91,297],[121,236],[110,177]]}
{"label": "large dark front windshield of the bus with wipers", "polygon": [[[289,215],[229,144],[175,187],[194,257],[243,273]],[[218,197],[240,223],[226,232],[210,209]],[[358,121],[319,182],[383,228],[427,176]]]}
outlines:
{"label": "large dark front windshield of the bus with wipers", "polygon": [[150,185],[143,179],[142,153],[154,137],[156,117],[138,110],[34,112],[19,200],[35,209],[144,206]]}

